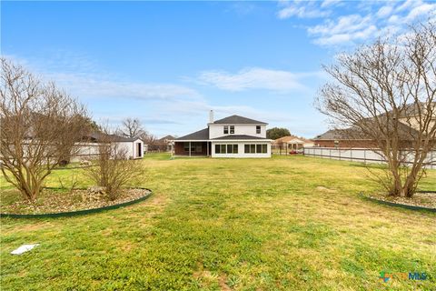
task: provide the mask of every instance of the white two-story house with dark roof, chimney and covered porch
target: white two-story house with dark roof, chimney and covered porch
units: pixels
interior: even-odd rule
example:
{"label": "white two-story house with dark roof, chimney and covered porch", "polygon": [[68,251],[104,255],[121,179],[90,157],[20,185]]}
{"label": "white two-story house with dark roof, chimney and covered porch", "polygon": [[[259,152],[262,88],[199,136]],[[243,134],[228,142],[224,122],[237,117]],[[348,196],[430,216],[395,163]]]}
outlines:
{"label": "white two-story house with dark roof, chimney and covered porch", "polygon": [[271,157],[266,123],[239,115],[213,121],[207,127],[174,140],[175,156]]}

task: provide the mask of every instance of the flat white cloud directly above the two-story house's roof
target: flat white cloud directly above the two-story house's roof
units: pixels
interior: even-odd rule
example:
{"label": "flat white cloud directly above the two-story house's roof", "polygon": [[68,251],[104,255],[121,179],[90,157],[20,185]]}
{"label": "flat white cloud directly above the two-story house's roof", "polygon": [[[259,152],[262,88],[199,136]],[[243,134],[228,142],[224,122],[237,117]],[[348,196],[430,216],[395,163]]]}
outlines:
{"label": "flat white cloud directly above the two-story house's roof", "polygon": [[[310,75],[316,74],[318,73]],[[307,73],[294,74],[288,71],[253,67],[244,68],[235,74],[224,71],[205,71],[198,76],[198,80],[203,84],[214,85],[229,91],[267,89],[286,92],[304,89],[301,78],[307,75]]]}

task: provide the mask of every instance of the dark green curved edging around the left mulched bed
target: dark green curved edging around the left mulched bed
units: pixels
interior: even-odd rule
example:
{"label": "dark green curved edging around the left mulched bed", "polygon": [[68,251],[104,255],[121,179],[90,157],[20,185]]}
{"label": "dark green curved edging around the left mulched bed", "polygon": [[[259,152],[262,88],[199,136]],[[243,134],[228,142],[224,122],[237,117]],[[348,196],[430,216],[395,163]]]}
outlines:
{"label": "dark green curved edging around the left mulched bed", "polygon": [[84,216],[84,215],[89,215],[89,214],[93,214],[93,213],[98,213],[98,212],[102,212],[105,210],[111,210],[111,209],[116,209],[116,208],[120,208],[120,207],[124,207],[124,206],[131,206],[133,204],[139,203],[141,201],[146,200],[148,197],[152,196],[153,191],[148,189],[148,188],[136,188],[136,189],[144,189],[144,190],[148,190],[150,191],[150,193],[148,193],[145,196],[142,196],[141,198],[135,199],[135,200],[131,200],[131,201],[127,201],[124,203],[120,203],[120,204],[115,204],[113,206],[103,206],[103,207],[98,207],[98,208],[92,208],[92,209],[84,209],[84,210],[77,210],[77,211],[68,211],[68,212],[60,212],[60,213],[45,213],[45,214],[35,214],[35,215],[18,215],[18,214],[0,214],[0,217],[10,217],[10,218],[56,218],[56,217],[67,217],[67,216]]}

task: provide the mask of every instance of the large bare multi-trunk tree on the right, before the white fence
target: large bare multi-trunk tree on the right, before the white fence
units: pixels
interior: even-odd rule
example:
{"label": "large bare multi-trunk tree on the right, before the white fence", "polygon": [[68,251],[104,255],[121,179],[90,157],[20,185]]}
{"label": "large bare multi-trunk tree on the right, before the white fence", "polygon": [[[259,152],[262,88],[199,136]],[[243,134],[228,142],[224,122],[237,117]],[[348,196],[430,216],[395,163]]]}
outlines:
{"label": "large bare multi-trunk tree on the right, before the white fence", "polygon": [[435,24],[362,45],[324,69],[333,82],[322,87],[318,108],[381,150],[390,195],[412,196],[436,146]]}

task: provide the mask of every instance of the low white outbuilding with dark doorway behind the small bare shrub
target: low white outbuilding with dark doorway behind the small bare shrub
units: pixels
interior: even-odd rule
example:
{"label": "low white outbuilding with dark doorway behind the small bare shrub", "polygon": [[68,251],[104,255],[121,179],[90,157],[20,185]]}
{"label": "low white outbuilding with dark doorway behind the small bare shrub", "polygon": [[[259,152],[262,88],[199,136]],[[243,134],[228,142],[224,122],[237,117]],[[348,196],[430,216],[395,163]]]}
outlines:
{"label": "low white outbuilding with dark doorway behind the small bare shrub", "polygon": [[139,137],[124,137],[121,135],[104,135],[101,133],[93,133],[84,136],[84,141],[76,143],[75,146],[80,146],[79,152],[74,158],[76,160],[93,159],[99,155],[98,147],[103,143],[116,143],[119,148],[124,148],[129,159],[137,159],[144,157],[144,142]]}

